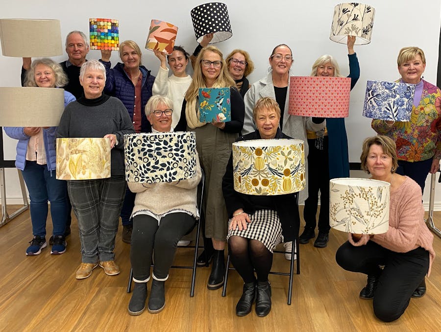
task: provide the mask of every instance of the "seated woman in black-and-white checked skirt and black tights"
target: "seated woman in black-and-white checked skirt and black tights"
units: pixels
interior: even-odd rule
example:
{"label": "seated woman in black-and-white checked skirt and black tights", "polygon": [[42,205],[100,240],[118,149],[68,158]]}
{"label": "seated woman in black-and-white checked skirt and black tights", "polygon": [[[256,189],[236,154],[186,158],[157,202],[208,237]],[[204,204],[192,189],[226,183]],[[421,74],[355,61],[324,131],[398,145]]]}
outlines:
{"label": "seated woman in black-and-white checked skirt and black tights", "polygon": [[[290,138],[280,131],[280,108],[274,99],[260,98],[254,107],[253,119],[257,130],[240,137],[238,141]],[[288,242],[298,235],[300,217],[295,194],[254,196],[236,192],[232,155],[223,176],[222,190],[230,217],[228,250],[231,262],[245,283],[236,306],[236,315],[248,314],[256,298],[256,313],[264,317],[271,310],[268,274],[272,252],[282,242],[282,237]]]}

